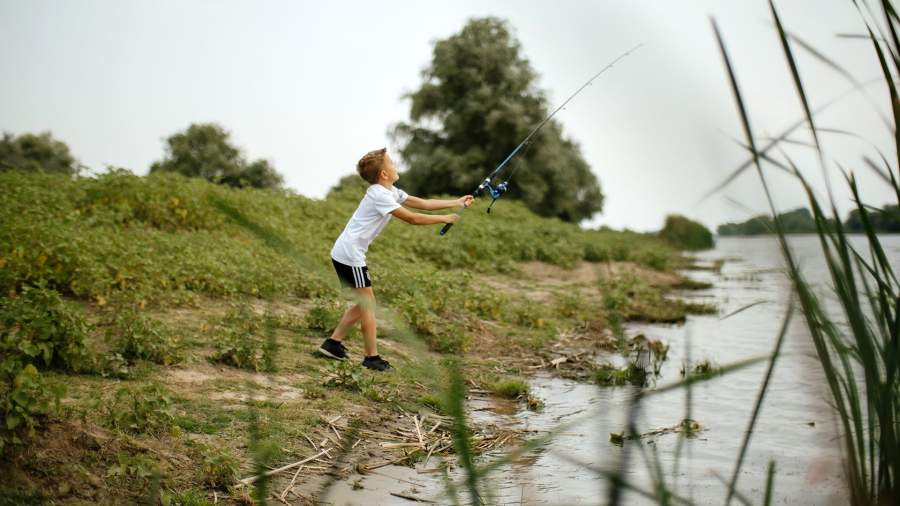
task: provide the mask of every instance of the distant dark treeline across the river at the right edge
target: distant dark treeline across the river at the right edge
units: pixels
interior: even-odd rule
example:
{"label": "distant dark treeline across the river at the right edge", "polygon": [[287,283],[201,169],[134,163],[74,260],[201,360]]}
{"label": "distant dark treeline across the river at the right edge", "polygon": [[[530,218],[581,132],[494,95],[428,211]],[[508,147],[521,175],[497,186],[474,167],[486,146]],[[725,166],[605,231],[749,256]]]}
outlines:
{"label": "distant dark treeline across the river at the right edge", "polygon": [[[816,232],[816,222],[813,220],[809,209],[801,207],[778,215],[788,234],[807,234]],[[885,205],[880,209],[871,209],[869,213],[872,227],[877,232],[900,233],[900,206]],[[829,220],[829,225],[834,226],[834,220]],[[844,220],[845,232],[863,232],[864,225],[859,216],[859,210],[854,209]],[[725,223],[719,225],[719,235],[763,235],[772,234],[775,225],[772,217],[761,214],[741,223]]]}

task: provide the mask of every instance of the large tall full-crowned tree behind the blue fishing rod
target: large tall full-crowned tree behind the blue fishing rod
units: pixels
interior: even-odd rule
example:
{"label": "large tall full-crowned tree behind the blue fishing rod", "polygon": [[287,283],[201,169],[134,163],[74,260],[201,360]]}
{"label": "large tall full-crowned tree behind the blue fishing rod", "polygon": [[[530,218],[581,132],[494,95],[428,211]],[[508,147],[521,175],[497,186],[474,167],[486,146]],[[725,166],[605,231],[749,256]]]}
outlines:
{"label": "large tall full-crowned tree behind the blue fishing rod", "polygon": [[[548,114],[537,75],[497,18],[472,19],[436,42],[422,77],[419,90],[406,96],[409,123],[391,132],[409,167],[402,184],[415,193],[472,191]],[[516,172],[509,196],[538,214],[577,222],[602,209],[596,176],[555,121],[510,168]]]}

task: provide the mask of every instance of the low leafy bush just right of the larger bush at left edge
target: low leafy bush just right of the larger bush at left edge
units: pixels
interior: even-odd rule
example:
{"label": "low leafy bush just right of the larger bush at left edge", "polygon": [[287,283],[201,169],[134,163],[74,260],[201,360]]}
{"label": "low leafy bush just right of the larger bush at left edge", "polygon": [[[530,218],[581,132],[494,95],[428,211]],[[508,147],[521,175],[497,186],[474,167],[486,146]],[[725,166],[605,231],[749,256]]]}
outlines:
{"label": "low leafy bush just right of the larger bush at left edge", "polygon": [[123,358],[171,365],[182,360],[180,343],[168,329],[138,310],[119,311],[107,336]]}

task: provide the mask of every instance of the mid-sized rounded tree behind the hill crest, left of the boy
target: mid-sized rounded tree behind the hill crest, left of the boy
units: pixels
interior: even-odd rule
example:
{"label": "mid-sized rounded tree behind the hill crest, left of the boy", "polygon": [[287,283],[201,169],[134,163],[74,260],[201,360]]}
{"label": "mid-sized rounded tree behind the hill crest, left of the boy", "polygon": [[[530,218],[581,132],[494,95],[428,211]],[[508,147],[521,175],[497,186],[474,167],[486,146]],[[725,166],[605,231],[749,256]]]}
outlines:
{"label": "mid-sized rounded tree behind the hill crest, left of the boy", "polygon": [[236,188],[277,188],[284,180],[266,160],[248,162],[215,123],[192,124],[166,139],[166,156],[150,172],[177,172]]}

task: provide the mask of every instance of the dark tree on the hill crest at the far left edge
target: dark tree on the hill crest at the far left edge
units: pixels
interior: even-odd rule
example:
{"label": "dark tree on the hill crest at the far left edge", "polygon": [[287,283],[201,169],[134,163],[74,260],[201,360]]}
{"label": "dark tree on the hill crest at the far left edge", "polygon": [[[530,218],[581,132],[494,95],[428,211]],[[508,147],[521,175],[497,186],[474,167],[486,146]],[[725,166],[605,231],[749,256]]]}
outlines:
{"label": "dark tree on the hill crest at the far left edge", "polygon": [[69,146],[50,132],[22,134],[4,132],[0,140],[0,170],[61,172],[77,174],[80,166],[69,153]]}

